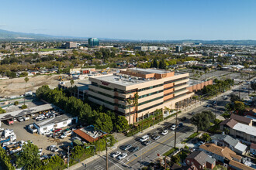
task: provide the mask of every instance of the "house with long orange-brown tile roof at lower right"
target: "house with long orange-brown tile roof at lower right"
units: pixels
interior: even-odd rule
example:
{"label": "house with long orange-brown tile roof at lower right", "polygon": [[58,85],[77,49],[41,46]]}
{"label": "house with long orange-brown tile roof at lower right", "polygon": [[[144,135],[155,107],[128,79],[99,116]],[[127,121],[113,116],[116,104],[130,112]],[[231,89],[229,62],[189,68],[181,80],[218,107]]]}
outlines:
{"label": "house with long orange-brown tile roof at lower right", "polygon": [[228,162],[230,160],[235,160],[240,162],[241,156],[237,155],[234,151],[227,147],[220,147],[215,144],[204,144],[200,145],[200,150],[204,151],[207,155],[211,155],[218,162]]}

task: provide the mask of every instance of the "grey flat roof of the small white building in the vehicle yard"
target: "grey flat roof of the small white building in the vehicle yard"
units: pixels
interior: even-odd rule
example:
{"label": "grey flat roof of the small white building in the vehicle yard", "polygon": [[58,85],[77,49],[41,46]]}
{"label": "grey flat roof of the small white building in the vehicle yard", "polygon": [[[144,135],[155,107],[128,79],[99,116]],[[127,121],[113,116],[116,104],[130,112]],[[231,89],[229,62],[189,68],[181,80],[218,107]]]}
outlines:
{"label": "grey flat roof of the small white building in the vehicle yard", "polygon": [[70,114],[62,114],[60,116],[57,117],[53,117],[53,118],[48,118],[48,119],[44,119],[43,121],[38,121],[35,122],[34,124],[36,124],[39,127],[43,127],[43,126],[47,126],[50,124],[57,124],[63,121],[67,121],[69,119],[71,119],[71,115]]}

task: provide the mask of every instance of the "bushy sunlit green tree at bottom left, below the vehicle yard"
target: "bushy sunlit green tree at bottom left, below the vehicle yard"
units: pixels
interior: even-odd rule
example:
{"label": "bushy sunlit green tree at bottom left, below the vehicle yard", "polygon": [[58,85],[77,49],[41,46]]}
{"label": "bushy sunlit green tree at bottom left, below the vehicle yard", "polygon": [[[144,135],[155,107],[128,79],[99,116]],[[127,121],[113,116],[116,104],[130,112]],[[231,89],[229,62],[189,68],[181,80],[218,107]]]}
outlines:
{"label": "bushy sunlit green tree at bottom left, below the vehicle yard", "polygon": [[19,152],[19,155],[16,155],[16,164],[18,168],[24,167],[28,170],[40,169],[42,164],[37,146],[33,145],[30,141],[28,144],[24,144],[22,151]]}

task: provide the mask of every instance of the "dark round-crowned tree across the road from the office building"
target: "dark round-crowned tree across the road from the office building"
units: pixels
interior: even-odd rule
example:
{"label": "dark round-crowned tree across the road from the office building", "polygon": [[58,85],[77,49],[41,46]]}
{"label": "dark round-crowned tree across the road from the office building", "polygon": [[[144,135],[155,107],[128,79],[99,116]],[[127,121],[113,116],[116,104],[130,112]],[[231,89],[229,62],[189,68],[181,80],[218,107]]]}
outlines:
{"label": "dark round-crowned tree across the road from the office building", "polygon": [[191,118],[192,124],[197,127],[197,132],[199,130],[206,130],[210,126],[210,122],[215,118],[211,111],[202,111],[199,114],[194,114]]}

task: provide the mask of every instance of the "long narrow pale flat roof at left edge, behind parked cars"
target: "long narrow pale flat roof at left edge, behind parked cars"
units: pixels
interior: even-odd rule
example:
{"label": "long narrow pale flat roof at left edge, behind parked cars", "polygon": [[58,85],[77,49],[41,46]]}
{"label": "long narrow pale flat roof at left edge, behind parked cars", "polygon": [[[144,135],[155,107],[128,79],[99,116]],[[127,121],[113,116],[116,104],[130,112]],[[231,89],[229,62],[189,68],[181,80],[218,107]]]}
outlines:
{"label": "long narrow pale flat roof at left edge, behind parked cars", "polygon": [[40,111],[53,109],[54,107],[54,104],[43,104],[36,107],[30,107],[23,110],[16,110],[5,114],[0,114],[0,121],[4,121],[13,117],[22,117],[26,114],[36,114]]}

